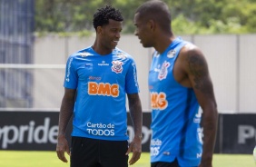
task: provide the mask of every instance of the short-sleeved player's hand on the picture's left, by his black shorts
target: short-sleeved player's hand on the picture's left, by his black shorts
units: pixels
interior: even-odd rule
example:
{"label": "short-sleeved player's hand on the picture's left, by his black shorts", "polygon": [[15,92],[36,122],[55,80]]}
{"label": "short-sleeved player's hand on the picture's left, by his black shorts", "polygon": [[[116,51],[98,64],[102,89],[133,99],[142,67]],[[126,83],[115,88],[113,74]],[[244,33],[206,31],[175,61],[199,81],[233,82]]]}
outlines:
{"label": "short-sleeved player's hand on the picture's left, by his black shorts", "polygon": [[56,152],[58,155],[58,158],[63,161],[63,162],[68,162],[67,159],[64,156],[64,152],[67,152],[67,154],[70,156],[70,151],[69,151],[69,146],[68,142],[65,139],[64,135],[59,135],[58,136],[58,142],[56,146]]}

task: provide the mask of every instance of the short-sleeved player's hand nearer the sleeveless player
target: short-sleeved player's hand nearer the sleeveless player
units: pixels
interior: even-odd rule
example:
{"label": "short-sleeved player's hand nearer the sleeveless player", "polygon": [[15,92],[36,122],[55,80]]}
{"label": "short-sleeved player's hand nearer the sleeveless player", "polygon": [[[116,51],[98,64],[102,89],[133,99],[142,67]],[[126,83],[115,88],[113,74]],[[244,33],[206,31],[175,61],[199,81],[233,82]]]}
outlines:
{"label": "short-sleeved player's hand nearer the sleeveless player", "polygon": [[128,155],[130,152],[133,152],[133,156],[130,159],[129,164],[133,165],[135,162],[137,162],[141,158],[141,153],[142,153],[142,139],[141,138],[135,137],[133,139],[133,142],[131,142],[129,145],[126,155]]}

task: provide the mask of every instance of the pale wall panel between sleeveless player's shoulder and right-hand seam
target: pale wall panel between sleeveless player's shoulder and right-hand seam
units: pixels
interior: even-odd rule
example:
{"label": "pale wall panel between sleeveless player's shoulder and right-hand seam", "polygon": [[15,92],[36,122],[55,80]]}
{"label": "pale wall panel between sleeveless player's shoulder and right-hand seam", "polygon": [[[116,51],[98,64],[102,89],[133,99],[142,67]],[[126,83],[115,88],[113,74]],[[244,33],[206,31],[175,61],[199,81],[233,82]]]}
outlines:
{"label": "pale wall panel between sleeveless player's shoulder and right-hand seam", "polygon": [[237,111],[236,36],[197,35],[194,43],[208,62],[218,108]]}

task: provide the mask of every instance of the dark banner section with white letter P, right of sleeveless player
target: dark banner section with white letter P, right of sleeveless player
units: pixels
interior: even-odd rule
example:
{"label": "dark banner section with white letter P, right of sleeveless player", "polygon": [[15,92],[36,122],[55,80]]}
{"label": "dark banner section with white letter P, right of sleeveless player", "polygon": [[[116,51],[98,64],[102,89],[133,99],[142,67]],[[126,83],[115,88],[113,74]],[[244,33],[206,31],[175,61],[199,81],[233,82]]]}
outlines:
{"label": "dark banner section with white letter P, right of sleeveless player", "polygon": [[251,154],[255,146],[256,114],[222,114],[220,152]]}

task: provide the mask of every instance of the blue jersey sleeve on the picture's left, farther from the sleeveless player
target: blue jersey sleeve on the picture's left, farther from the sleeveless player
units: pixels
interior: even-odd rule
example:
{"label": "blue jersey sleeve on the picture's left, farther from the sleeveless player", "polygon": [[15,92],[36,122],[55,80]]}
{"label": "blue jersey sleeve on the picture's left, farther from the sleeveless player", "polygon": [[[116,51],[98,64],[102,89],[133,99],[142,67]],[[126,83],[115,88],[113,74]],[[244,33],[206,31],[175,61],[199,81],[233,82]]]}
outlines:
{"label": "blue jersey sleeve on the picture's left, farther from the sleeveless player", "polygon": [[70,56],[65,67],[64,87],[76,89],[77,81],[78,77],[74,65],[74,56]]}

